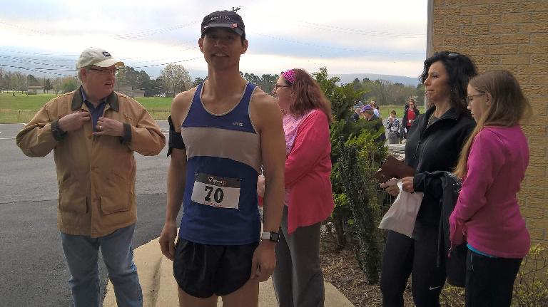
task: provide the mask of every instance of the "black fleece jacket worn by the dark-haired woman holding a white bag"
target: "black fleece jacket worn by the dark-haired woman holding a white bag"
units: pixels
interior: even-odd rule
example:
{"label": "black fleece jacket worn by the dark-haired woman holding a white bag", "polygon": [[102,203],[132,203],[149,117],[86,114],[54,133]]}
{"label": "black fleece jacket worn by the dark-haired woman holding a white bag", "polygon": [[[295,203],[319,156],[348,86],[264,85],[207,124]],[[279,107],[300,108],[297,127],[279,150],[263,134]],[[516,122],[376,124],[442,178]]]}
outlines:
{"label": "black fleece jacket worn by the dark-haired woman holding a white bag", "polygon": [[427,128],[428,118],[434,110],[435,106],[419,115],[405,145],[405,163],[415,169],[413,189],[424,193],[413,233],[415,239],[420,239],[421,229],[437,231],[440,224],[442,181],[439,176],[425,172],[451,172],[476,125],[468,112],[458,113],[456,108],[451,108]]}

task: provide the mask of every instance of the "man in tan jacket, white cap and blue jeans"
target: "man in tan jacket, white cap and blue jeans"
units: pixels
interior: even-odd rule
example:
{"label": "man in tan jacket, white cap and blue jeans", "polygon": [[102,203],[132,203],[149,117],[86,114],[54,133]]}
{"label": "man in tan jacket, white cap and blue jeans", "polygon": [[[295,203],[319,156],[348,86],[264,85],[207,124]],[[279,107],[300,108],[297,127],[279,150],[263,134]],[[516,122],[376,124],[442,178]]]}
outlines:
{"label": "man in tan jacket, white cap and blue jeans", "polygon": [[57,227],[71,271],[74,305],[100,306],[101,247],[118,306],[142,306],[131,238],[137,221],[133,152],[158,155],[166,138],[136,100],[113,91],[121,61],[87,48],[78,90],[50,100],[16,137],[29,157],[54,150]]}

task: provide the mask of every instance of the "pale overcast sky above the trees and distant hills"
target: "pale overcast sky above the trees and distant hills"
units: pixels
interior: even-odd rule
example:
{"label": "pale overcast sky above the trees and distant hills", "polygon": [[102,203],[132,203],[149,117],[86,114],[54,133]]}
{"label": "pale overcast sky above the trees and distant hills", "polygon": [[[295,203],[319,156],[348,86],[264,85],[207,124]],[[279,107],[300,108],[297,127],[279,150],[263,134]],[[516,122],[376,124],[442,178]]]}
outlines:
{"label": "pale overcast sky above the trees and distant hills", "polygon": [[211,11],[233,6],[240,6],[238,14],[249,41],[240,71],[279,73],[299,67],[314,72],[326,66],[329,73],[417,77],[426,53],[427,0],[0,0],[0,4],[0,64],[49,68],[52,73],[71,73],[62,70],[73,68],[88,46],[105,48],[153,77],[164,63],[175,62],[191,72],[207,71],[198,49],[201,20]]}

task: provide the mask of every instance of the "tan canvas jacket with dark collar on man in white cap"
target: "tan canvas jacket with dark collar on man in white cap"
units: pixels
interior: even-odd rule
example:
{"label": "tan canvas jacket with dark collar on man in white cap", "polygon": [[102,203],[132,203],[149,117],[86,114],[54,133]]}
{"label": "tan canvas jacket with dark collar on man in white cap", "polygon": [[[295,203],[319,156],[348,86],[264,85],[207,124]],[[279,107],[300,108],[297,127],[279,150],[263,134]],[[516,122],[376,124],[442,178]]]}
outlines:
{"label": "tan canvas jacket with dark collar on man in white cap", "polygon": [[29,157],[54,150],[59,230],[105,236],[137,221],[133,152],[158,155],[166,137],[141,104],[116,92],[108,96],[103,117],[124,123],[123,137],[93,136],[91,120],[79,130],[60,132],[57,120],[80,110],[88,112],[80,89],[54,98],[25,125],[16,142]]}

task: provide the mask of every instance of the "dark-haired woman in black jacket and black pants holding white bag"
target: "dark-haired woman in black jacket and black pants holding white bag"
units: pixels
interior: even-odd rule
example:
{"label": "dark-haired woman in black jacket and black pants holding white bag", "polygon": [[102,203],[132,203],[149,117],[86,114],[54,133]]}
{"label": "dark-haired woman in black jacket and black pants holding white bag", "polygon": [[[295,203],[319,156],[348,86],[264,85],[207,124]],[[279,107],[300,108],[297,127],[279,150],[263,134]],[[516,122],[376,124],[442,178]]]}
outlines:
{"label": "dark-haired woman in black jacket and black pants holding white bag", "polygon": [[[403,291],[412,275],[413,301],[417,307],[440,306],[445,284],[445,262],[437,264],[442,181],[435,171],[452,171],[462,146],[475,127],[466,107],[468,80],[477,74],[474,63],[460,53],[435,53],[425,61],[420,80],[432,108],[420,115],[407,136],[405,163],[415,169],[402,178],[405,192],[423,192],[412,238],[388,231],[382,259],[383,306],[403,306]],[[397,195],[396,186],[386,187]]]}

